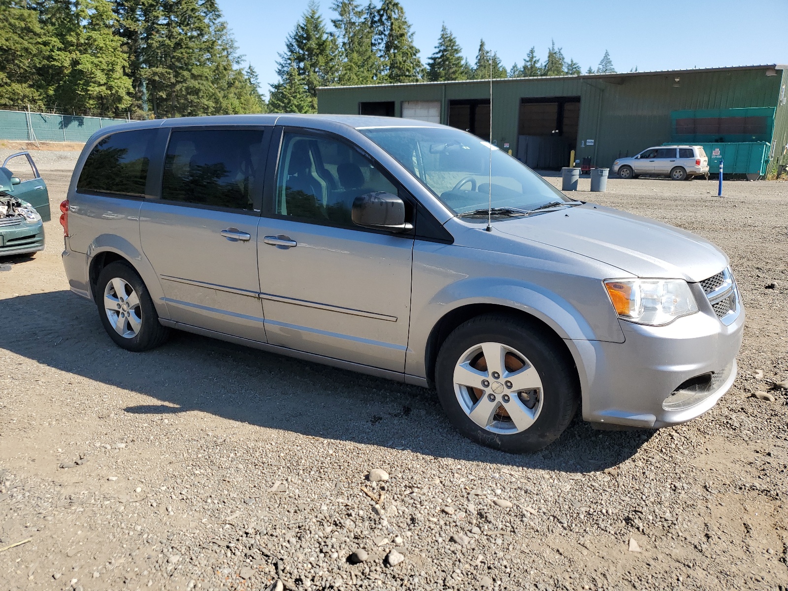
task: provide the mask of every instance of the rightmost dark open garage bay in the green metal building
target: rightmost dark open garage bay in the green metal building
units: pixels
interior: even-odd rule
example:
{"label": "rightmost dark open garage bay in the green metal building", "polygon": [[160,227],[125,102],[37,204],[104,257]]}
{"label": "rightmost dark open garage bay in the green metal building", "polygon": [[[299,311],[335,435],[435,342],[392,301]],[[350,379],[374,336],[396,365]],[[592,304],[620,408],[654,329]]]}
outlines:
{"label": "rightmost dark open garage bay in the green metal building", "polygon": [[568,166],[579,122],[579,96],[521,99],[517,158],[532,169]]}

